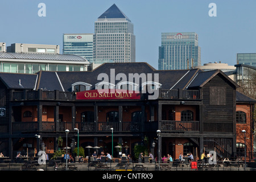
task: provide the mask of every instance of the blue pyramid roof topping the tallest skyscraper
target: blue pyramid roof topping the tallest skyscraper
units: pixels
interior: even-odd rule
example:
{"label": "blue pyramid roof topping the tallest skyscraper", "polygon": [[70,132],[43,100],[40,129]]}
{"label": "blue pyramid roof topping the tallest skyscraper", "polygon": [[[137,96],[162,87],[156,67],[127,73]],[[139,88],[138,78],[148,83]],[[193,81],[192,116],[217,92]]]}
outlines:
{"label": "blue pyramid roof topping the tallest skyscraper", "polygon": [[117,5],[112,5],[108,10],[106,10],[98,18],[125,18],[131,21],[122,11],[117,7]]}

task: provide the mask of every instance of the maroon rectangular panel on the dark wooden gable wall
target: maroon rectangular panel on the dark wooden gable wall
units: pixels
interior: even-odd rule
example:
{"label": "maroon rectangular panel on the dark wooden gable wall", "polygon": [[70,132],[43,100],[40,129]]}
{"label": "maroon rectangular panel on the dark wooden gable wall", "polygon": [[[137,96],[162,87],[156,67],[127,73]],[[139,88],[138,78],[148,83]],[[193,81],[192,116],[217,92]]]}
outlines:
{"label": "maroon rectangular panel on the dark wooden gable wall", "polygon": [[210,105],[226,105],[226,87],[210,86]]}

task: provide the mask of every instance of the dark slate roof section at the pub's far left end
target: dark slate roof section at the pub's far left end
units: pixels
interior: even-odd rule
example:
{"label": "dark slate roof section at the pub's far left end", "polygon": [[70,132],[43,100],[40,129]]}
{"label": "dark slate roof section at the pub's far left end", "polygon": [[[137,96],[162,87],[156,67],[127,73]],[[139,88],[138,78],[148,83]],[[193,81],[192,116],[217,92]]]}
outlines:
{"label": "dark slate roof section at the pub's far left end", "polygon": [[38,75],[22,73],[0,73],[0,79],[8,89],[35,89]]}

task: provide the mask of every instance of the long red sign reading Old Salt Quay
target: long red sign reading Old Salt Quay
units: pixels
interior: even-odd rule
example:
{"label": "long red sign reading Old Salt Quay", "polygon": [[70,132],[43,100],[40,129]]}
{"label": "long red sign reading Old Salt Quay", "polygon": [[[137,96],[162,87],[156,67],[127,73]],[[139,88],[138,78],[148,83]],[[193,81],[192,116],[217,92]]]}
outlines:
{"label": "long red sign reading Old Salt Quay", "polygon": [[98,89],[76,93],[77,100],[139,100],[141,94],[133,90]]}

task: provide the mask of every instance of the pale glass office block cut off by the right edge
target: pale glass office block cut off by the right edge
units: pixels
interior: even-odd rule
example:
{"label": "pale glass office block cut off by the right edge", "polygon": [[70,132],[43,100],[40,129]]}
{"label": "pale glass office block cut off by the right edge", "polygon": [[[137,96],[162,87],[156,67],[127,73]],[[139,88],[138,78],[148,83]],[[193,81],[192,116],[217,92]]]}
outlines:
{"label": "pale glass office block cut off by the right edge", "polygon": [[256,53],[237,53],[237,64],[256,67]]}

